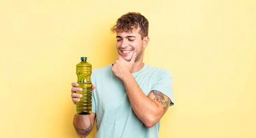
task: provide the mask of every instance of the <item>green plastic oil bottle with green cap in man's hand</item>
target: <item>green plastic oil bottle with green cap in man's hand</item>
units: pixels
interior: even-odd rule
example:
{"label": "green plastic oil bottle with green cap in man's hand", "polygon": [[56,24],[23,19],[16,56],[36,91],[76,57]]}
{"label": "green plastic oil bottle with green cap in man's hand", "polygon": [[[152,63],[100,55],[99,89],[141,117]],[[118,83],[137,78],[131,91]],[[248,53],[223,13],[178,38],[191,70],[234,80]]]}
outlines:
{"label": "green plastic oil bottle with green cap in man's hand", "polygon": [[92,84],[90,76],[92,74],[92,65],[87,62],[87,57],[81,57],[81,62],[76,65],[76,75],[78,87],[82,88],[80,101],[76,101],[77,115],[90,115],[92,113]]}

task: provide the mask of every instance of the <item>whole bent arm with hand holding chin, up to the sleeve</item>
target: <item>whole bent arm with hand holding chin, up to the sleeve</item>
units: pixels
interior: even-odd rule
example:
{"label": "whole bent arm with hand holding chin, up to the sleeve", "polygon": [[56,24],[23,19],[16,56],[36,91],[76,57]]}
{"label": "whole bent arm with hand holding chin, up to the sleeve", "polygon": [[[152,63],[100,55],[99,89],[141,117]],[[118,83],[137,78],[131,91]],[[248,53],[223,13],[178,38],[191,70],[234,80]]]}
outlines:
{"label": "whole bent arm with hand holding chin, up to the sleeve", "polygon": [[[117,56],[118,59],[112,65],[111,69],[124,83],[134,113],[143,121],[146,127],[153,127],[163,117],[164,113],[166,113],[171,101],[167,96],[157,90],[153,90],[148,96],[145,96],[134,79],[134,76],[131,74],[136,54],[137,53],[134,52],[129,62],[123,59],[119,54]],[[166,82],[169,81],[169,79],[166,80]],[[158,87],[165,86],[158,84]],[[155,98],[155,96],[157,98]],[[160,97],[160,99],[158,97]]]}

